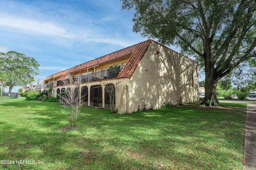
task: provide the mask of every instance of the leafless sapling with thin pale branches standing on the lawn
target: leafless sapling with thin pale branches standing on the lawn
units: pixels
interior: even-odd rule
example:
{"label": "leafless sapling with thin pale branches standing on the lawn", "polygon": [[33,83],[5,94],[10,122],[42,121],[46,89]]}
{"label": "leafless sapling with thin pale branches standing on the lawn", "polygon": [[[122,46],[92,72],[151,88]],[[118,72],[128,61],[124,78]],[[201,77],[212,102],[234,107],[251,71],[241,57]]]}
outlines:
{"label": "leafless sapling with thin pale branches standing on the lawn", "polygon": [[68,73],[68,78],[62,80],[66,86],[66,92],[58,94],[60,103],[62,106],[69,111],[71,116],[71,125],[76,125],[78,114],[82,104],[80,102],[80,78],[75,78],[74,73]]}

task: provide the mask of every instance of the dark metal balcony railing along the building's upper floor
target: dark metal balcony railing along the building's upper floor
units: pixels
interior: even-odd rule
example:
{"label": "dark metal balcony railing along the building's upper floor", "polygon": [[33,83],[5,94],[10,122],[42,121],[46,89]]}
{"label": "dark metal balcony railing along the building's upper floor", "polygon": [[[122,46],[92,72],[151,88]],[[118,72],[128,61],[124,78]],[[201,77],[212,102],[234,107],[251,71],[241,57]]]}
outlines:
{"label": "dark metal balcony railing along the building's upper floor", "polygon": [[[121,71],[121,68],[108,68],[106,70],[102,70],[99,72],[83,75],[81,76],[81,83],[116,78],[120,73],[120,71]],[[66,84],[65,82],[67,81],[59,80],[57,81],[57,86],[64,86]],[[75,79],[74,82],[76,82],[76,84],[79,84],[78,82],[80,82],[80,80]]]}

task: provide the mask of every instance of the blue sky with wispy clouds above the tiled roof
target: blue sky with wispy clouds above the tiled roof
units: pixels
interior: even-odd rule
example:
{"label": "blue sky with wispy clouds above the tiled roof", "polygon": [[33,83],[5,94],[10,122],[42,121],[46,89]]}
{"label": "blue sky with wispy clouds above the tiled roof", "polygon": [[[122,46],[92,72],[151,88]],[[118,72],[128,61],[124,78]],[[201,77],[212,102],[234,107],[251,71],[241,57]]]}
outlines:
{"label": "blue sky with wispy clouds above the tiled roof", "polygon": [[133,15],[119,0],[0,0],[0,52],[36,59],[42,82],[148,39],[132,31]]}

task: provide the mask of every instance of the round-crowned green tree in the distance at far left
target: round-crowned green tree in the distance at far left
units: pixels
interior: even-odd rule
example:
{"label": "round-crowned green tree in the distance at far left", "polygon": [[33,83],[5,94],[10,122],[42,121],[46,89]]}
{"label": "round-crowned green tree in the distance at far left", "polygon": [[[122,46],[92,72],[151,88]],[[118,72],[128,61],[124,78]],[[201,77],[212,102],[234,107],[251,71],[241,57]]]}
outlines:
{"label": "round-crowned green tree in the distance at far left", "polygon": [[39,64],[32,57],[22,53],[9,51],[0,53],[0,79],[9,86],[12,92],[14,86],[23,86],[34,81],[34,76],[39,74]]}

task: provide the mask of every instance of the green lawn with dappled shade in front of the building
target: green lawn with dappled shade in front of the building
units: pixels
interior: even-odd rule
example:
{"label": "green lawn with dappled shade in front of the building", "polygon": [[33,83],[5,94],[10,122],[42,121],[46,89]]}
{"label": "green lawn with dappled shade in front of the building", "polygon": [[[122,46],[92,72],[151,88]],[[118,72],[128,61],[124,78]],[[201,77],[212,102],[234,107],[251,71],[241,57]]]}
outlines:
{"label": "green lawn with dappled shade in front of the building", "polygon": [[0,169],[241,169],[246,104],[224,105],[125,115],[82,107],[70,128],[59,103],[0,99],[0,160],[15,161]]}

